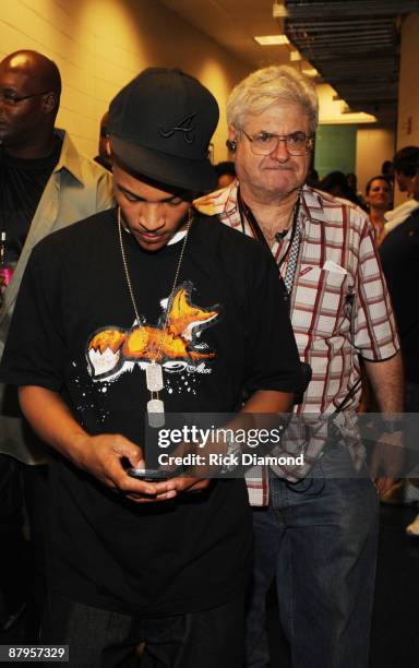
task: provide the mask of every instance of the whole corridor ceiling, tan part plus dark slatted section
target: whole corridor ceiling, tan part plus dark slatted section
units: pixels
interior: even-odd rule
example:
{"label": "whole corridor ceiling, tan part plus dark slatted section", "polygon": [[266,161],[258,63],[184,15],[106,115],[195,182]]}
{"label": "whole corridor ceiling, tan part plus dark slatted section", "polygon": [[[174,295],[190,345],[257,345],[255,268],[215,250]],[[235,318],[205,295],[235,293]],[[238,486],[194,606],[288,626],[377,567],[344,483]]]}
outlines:
{"label": "whole corridor ceiling, tan part plus dark slatted section", "polygon": [[[289,64],[297,48],[302,61],[346,100],[395,123],[403,17],[419,0],[160,0],[252,69]],[[273,9],[279,15],[273,16]],[[285,15],[287,14],[287,15]],[[260,46],[255,35],[283,33],[290,46]]]}

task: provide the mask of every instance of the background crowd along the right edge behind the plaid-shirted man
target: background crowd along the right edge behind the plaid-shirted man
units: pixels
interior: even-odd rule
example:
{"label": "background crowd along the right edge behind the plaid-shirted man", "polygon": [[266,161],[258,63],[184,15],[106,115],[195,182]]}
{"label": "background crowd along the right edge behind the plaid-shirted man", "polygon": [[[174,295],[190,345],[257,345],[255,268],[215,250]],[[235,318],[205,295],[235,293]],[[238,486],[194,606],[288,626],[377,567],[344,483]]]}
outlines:
{"label": "background crowd along the right edge behind the plaid-shirted man", "polygon": [[[404,409],[407,414],[416,414],[419,410],[416,350],[419,309],[411,295],[415,294],[417,284],[419,260],[419,146],[405,146],[395,153],[393,160],[385,160],[381,174],[367,181],[364,195],[357,191],[357,178],[354,174],[345,176],[342,171],[333,171],[321,180],[318,178],[315,184],[320,190],[345,198],[363,208],[373,225],[400,337],[405,378]],[[395,188],[407,195],[407,200],[397,207],[393,207]],[[367,378],[363,378],[359,410],[376,410],[376,402]],[[409,443],[415,443],[417,427],[414,420],[410,424],[407,421],[406,440]],[[409,450],[412,452],[407,452],[406,457],[407,461],[411,460],[411,475],[396,481],[386,490],[381,496],[383,503],[419,505],[419,468],[414,454],[415,448]],[[406,527],[406,533],[419,537],[419,514]]]}

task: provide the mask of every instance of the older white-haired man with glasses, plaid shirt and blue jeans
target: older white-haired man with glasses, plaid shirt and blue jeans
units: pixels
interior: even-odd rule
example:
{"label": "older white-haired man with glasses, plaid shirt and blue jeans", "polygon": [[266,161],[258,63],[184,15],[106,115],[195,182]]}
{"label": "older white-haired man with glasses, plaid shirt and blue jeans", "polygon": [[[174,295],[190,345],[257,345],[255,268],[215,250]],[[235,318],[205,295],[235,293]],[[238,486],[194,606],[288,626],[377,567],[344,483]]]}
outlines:
{"label": "older white-haired man with glasses, plaid shirt and blue jeans", "polygon": [[[288,67],[259,70],[232,91],[227,119],[238,180],[197,205],[259,239],[277,261],[300,358],[313,369],[296,411],[350,419],[362,358],[381,410],[399,413],[399,346],[372,226],[350,202],[306,184],[318,124],[314,87]],[[387,415],[385,440],[399,443],[398,429]],[[247,666],[268,666],[265,595],[275,576],[294,668],[368,665],[378,494],[359,469],[359,450],[355,443],[350,457],[334,431],[326,450],[310,443],[300,470],[265,469],[251,480],[259,508]],[[378,486],[387,488],[392,473]]]}

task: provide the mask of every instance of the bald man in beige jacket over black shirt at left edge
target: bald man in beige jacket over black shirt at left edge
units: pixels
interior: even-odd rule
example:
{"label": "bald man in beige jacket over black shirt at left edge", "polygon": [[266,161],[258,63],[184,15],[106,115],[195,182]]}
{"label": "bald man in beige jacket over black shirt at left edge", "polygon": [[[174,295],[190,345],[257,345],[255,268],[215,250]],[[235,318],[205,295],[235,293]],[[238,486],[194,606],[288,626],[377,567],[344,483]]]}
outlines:
{"label": "bald man in beige jacket over black shirt at left edge", "polygon": [[[36,51],[11,53],[0,62],[0,355],[32,248],[55,229],[112,205],[110,176],[81,155],[67,132],[55,129],[61,80],[57,65]],[[44,515],[47,449],[24,424],[16,392],[0,384],[0,589],[8,610],[0,628],[26,599],[20,562],[22,549],[21,474],[24,478],[31,540],[39,572],[44,570]],[[13,502],[11,501],[13,500]],[[21,515],[21,518],[20,518]],[[14,577],[13,572],[19,573]],[[34,593],[41,606],[41,586]],[[0,606],[1,607],[1,606]],[[37,636],[35,612],[27,615],[28,637]]]}

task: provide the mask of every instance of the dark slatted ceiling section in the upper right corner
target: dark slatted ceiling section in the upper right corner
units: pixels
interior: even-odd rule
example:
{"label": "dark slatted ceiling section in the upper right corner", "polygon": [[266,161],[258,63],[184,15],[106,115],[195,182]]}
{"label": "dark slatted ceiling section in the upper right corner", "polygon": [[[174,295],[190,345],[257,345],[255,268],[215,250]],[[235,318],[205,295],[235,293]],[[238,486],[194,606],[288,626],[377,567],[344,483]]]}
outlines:
{"label": "dark slatted ceiling section in the upper right corner", "polygon": [[286,35],[350,110],[395,122],[400,26],[419,2],[287,0],[285,5]]}

